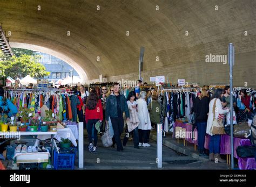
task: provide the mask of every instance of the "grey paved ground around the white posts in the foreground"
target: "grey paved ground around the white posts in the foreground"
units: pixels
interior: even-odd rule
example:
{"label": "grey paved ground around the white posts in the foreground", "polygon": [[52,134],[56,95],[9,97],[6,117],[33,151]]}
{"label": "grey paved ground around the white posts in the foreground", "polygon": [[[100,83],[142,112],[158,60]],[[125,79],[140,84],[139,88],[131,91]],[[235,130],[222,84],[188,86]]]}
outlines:
{"label": "grey paved ground around the white posts in the foreground", "polygon": [[[97,153],[88,152],[86,132],[84,142],[84,169],[158,169],[156,141],[150,140],[151,147],[140,149],[133,148],[133,142],[129,141],[124,147],[124,152],[117,152],[116,148],[103,147],[99,138]],[[76,169],[79,169],[77,162],[78,157]],[[226,163],[194,159],[163,146],[162,169],[229,169],[229,167]]]}

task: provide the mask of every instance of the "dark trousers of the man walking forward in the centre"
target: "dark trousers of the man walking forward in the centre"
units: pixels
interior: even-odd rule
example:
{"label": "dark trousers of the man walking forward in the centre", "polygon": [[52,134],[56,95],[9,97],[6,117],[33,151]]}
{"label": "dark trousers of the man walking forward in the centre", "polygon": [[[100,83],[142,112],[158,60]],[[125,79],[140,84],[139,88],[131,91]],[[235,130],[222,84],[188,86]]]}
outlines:
{"label": "dark trousers of the man walking forward in the centre", "polygon": [[117,150],[123,150],[120,136],[124,131],[124,118],[118,117],[118,118],[110,118],[110,119],[111,119],[111,123],[114,130],[114,136],[112,138],[113,145],[117,143]]}

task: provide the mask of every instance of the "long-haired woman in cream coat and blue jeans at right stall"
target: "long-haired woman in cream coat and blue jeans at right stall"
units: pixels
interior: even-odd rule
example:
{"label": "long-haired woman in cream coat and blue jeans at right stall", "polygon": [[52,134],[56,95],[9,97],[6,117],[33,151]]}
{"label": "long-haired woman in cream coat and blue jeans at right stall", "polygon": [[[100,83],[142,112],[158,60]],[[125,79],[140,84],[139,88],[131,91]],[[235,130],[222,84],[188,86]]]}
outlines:
{"label": "long-haired woman in cream coat and blue jeans at right stall", "polygon": [[[220,134],[212,134],[211,128],[212,128],[212,122],[213,122],[213,111],[215,112],[215,118],[218,119],[219,114],[225,114],[229,109],[223,109],[221,105],[221,98],[223,97],[223,89],[216,89],[215,92],[212,95],[211,102],[209,104],[209,113],[208,113],[208,119],[207,119],[207,127],[206,127],[206,133],[211,135],[210,140],[210,154],[209,159],[211,161],[218,161],[218,162],[225,162],[220,158]],[[215,109],[213,109],[215,104]]]}

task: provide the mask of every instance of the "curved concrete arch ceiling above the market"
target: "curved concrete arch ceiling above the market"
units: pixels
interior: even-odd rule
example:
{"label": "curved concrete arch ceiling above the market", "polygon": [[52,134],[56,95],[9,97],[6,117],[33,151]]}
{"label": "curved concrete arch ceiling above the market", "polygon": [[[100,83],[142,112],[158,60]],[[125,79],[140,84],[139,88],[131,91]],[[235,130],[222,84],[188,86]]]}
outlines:
{"label": "curved concrete arch ceiling above the market", "polygon": [[[11,42],[68,57],[84,80],[100,74],[113,80],[138,78],[139,49],[144,46],[144,77],[164,74],[203,83],[207,74],[220,69],[223,74],[212,80],[228,77],[226,66],[203,61],[209,53],[227,54],[229,42],[235,44],[236,55],[250,54],[250,61],[255,57],[255,10],[254,0],[0,0],[0,22],[11,31]],[[244,71],[237,71],[246,81]]]}

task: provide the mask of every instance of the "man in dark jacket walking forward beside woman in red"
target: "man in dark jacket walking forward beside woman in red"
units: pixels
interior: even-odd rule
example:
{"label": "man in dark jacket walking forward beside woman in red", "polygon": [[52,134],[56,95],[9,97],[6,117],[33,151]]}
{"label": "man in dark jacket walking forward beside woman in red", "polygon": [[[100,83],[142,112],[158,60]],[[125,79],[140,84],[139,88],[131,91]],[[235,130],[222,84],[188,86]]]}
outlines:
{"label": "man in dark jacket walking forward beside woman in red", "polygon": [[124,95],[119,93],[119,83],[114,83],[114,92],[111,93],[106,100],[106,111],[105,111],[105,120],[106,123],[111,119],[111,123],[114,130],[113,145],[117,143],[117,151],[123,152],[122,141],[120,135],[124,131],[124,118],[123,113],[125,112],[126,120],[129,120],[129,109],[126,103],[126,98]]}

